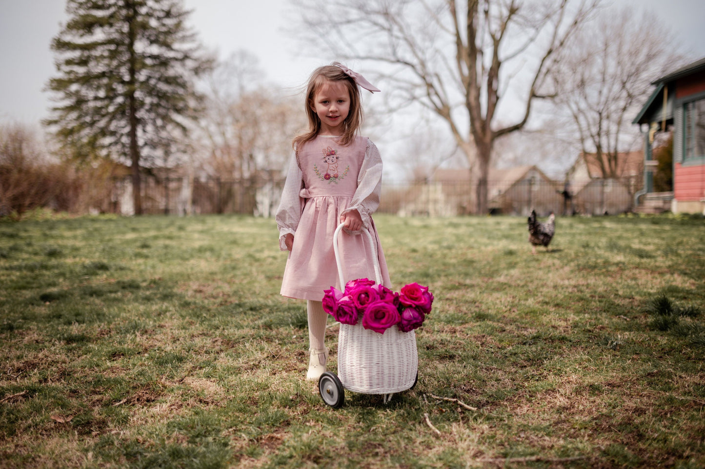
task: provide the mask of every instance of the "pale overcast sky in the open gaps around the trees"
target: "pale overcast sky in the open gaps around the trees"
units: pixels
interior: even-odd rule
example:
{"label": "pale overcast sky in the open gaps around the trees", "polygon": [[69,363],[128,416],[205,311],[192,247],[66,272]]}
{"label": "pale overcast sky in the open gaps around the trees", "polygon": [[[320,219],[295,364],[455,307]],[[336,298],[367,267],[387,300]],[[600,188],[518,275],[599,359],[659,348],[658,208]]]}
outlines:
{"label": "pale overcast sky in the open gaps around the trees", "polygon": [[[650,8],[694,59],[705,56],[705,1],[614,0]],[[35,123],[48,115],[47,80],[56,74],[49,50],[51,38],[66,20],[64,0],[0,0],[0,121]],[[266,79],[298,87],[316,66],[316,51],[296,49],[284,30],[289,0],[185,0],[192,27],[201,41],[225,58],[245,49],[257,56]]]}

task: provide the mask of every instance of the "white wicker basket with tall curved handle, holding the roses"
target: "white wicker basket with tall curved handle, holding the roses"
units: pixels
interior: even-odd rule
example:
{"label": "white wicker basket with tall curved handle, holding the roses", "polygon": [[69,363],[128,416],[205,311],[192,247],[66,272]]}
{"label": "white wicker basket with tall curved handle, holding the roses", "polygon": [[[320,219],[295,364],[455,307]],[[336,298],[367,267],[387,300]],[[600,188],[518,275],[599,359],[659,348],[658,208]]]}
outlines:
{"label": "white wicker basket with tall curved handle, holding the roses", "polygon": [[[333,235],[333,250],[338,263],[341,288],[345,286],[343,267],[338,255],[339,225]],[[372,246],[376,283],[381,283],[376,242],[365,230]],[[341,324],[338,333],[338,377],[345,389],[362,394],[393,394],[410,389],[416,382],[419,358],[414,331],[402,332],[392,326],[379,334],[357,324]]]}

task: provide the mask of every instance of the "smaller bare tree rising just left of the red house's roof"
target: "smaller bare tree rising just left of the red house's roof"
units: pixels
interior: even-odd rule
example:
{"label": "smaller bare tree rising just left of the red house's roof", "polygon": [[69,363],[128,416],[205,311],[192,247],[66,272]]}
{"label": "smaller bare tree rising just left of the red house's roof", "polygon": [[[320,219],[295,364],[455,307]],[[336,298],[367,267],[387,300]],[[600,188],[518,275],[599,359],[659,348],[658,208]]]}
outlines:
{"label": "smaller bare tree rising just left of the red house's roof", "polygon": [[553,74],[556,114],[580,137],[584,157],[603,178],[621,176],[620,153],[640,144],[632,118],[651,93],[651,80],[673,68],[673,46],[656,16],[635,8],[607,9],[558,54]]}

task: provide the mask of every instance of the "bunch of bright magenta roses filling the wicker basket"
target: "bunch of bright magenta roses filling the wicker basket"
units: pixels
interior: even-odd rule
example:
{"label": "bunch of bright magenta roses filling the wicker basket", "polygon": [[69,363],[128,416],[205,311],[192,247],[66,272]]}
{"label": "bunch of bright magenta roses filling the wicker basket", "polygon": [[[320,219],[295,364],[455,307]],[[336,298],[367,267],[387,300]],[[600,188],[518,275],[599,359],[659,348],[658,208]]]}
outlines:
{"label": "bunch of bright magenta roses filling the wicker basket", "polygon": [[357,324],[384,334],[396,325],[402,332],[421,327],[431,312],[433,294],[427,286],[408,284],[397,293],[369,279],[351,280],[343,291],[331,286],[324,291],[323,309],[341,324]]}

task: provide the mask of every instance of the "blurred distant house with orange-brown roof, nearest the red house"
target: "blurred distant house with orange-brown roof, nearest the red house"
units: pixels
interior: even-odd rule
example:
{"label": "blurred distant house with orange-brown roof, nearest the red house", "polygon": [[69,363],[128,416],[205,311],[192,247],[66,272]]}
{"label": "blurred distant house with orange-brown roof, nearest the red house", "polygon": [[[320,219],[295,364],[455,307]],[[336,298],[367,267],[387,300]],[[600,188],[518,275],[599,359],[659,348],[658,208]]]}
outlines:
{"label": "blurred distant house with orange-brown roof, nearest the red house", "polygon": [[630,212],[633,196],[642,187],[644,154],[581,153],[565,173],[568,193],[564,214],[618,214]]}

